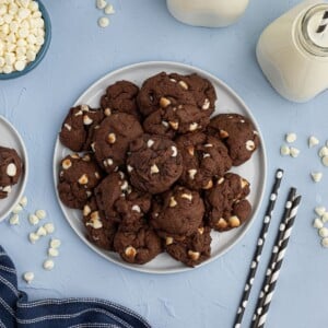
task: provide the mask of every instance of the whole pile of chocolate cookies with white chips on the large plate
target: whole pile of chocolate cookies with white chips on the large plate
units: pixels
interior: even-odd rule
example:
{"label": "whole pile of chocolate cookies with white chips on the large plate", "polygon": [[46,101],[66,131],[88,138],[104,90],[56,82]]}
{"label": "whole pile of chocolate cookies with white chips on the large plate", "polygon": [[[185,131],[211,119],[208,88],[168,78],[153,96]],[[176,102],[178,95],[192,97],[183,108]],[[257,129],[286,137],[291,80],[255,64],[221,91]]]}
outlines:
{"label": "whole pile of chocolate cookies with white chips on the large plate", "polygon": [[101,108],[71,108],[59,138],[58,191],[81,209],[87,238],[142,265],[166,251],[194,267],[211,255],[211,231],[251,213],[249,183],[231,173],[259,145],[250,120],[219,114],[213,85],[198,74],[161,72],[139,89],[109,85]]}

